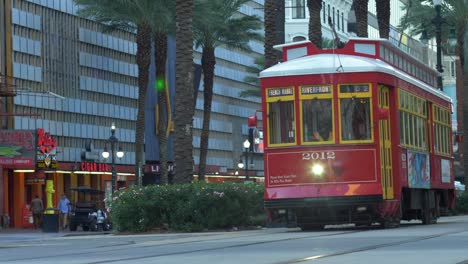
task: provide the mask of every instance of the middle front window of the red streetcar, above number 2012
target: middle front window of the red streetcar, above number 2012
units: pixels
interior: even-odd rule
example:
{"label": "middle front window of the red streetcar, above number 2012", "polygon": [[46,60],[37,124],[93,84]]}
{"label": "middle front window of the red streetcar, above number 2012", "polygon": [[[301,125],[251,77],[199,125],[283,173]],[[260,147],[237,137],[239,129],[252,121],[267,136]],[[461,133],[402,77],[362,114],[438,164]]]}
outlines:
{"label": "middle front window of the red streetcar, above number 2012", "polygon": [[332,99],[302,100],[303,141],[333,139]]}

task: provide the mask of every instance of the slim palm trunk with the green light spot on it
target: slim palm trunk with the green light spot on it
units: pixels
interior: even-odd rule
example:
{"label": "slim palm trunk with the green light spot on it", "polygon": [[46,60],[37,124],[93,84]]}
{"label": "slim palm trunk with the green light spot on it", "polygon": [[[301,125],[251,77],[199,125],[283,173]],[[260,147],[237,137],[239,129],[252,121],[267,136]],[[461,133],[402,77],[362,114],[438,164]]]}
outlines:
{"label": "slim palm trunk with the green light spot on it", "polygon": [[156,81],[158,84],[158,141],[159,141],[159,168],[161,184],[167,184],[167,100],[166,100],[166,60],[167,36],[154,33],[154,61],[156,64]]}

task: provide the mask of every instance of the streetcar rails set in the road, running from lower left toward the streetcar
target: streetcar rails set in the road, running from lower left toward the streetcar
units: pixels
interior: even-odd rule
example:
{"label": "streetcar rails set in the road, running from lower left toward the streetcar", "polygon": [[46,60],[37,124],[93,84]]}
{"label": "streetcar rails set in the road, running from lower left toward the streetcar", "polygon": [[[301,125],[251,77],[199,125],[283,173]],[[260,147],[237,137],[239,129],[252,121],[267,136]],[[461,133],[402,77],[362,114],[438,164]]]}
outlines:
{"label": "streetcar rails set in the road, running from lower left toward the streetcar", "polygon": [[[329,237],[329,236],[337,236],[337,235],[343,235],[343,234],[352,234],[352,233],[358,233],[358,232],[365,232],[366,230],[351,230],[351,231],[341,231],[341,232],[336,232],[333,234],[321,234],[317,236],[313,236],[313,238],[320,238],[320,237]],[[244,238],[244,237],[252,237],[252,236],[268,236],[268,235],[275,235],[275,234],[281,234],[281,233],[287,233],[290,231],[284,231],[284,232],[274,232],[274,233],[255,233],[255,234],[247,234],[247,235],[238,235],[236,237],[232,238]],[[231,238],[231,237],[230,237]],[[227,238],[227,239],[230,239]],[[311,238],[310,235],[308,236],[300,236],[300,237],[294,237],[294,238],[283,238],[283,239],[276,239],[276,240],[266,240],[266,241],[261,241],[261,242],[251,242],[251,243],[240,243],[240,244],[235,244],[235,245],[230,245],[230,246],[220,246],[220,247],[215,247],[215,248],[203,248],[203,249],[194,249],[194,250],[186,250],[186,251],[178,251],[178,252],[170,252],[170,253],[159,253],[159,254],[152,254],[152,255],[146,255],[146,256],[140,256],[140,257],[130,257],[130,258],[120,258],[120,259],[109,259],[109,260],[102,260],[102,261],[97,261],[97,262],[87,262],[87,264],[98,264],[98,263],[111,263],[111,262],[119,262],[119,261],[125,261],[125,260],[135,260],[135,259],[145,259],[145,258],[153,258],[153,257],[164,257],[164,256],[172,256],[172,255],[183,255],[183,254],[189,254],[189,253],[196,253],[196,252],[203,252],[203,251],[214,251],[214,250],[221,250],[221,249],[229,249],[229,248],[238,248],[238,247],[245,247],[245,246],[252,246],[252,245],[261,245],[261,244],[268,244],[268,243],[275,243],[275,242],[280,242],[280,241],[291,241],[291,240],[300,240],[300,239],[307,239]],[[189,243],[202,243],[202,242],[212,242],[212,241],[217,241],[217,240],[225,240],[226,237],[219,237],[215,239],[207,239],[207,240],[198,240],[198,241],[182,241],[182,242],[174,242],[174,243],[169,243],[169,244],[159,244],[159,245],[145,245],[145,246],[138,246],[139,243],[135,241],[129,241],[128,243],[119,243],[115,245],[110,245],[107,246],[107,248],[113,248],[113,247],[126,247],[125,249],[128,249],[128,245],[135,245],[136,247],[139,248],[148,248],[148,247],[161,247],[161,246],[168,246],[168,245],[181,245],[181,244],[189,244]],[[149,241],[145,241],[149,242]],[[144,244],[145,242],[141,242],[140,244]],[[150,241],[150,242],[155,242],[155,241]],[[93,247],[93,249],[102,249],[104,246],[101,247]],[[112,249],[116,250],[116,249]],[[48,255],[48,256],[35,256],[35,257],[27,257],[27,258],[15,258],[15,259],[3,259],[3,261],[6,262],[16,262],[16,261],[24,261],[24,260],[37,260],[37,259],[47,259],[47,258],[54,258],[54,257],[72,257],[72,256],[82,256],[83,254],[90,254],[90,253],[100,253],[104,252],[102,250],[86,250],[86,251],[80,251],[77,253],[64,253],[64,254],[55,254],[55,255]]]}

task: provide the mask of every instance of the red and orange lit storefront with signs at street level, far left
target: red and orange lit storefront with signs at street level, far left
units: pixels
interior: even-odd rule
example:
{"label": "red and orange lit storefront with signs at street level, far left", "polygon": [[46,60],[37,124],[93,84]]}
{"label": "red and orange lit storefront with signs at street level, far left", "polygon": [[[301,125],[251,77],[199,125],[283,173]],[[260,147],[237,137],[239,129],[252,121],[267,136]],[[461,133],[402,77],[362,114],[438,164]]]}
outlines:
{"label": "red and orange lit storefront with signs at street level, far left", "polygon": [[[29,204],[36,195],[43,200],[44,207],[56,208],[62,193],[72,203],[76,200],[76,194],[70,192],[72,187],[110,189],[112,173],[109,164],[58,162],[56,147],[55,140],[43,129],[0,131],[2,225],[31,227]],[[116,171],[116,190],[135,184],[134,166],[116,165]],[[47,199],[48,195],[50,199]]]}

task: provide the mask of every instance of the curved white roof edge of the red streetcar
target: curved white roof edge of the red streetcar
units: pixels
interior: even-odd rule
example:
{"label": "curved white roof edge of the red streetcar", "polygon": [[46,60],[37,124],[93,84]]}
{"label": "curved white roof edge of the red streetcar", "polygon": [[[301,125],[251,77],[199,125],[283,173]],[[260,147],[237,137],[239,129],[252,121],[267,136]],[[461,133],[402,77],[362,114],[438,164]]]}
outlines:
{"label": "curved white roof edge of the red streetcar", "polygon": [[283,77],[297,75],[316,75],[332,73],[382,72],[393,75],[406,82],[421,87],[447,101],[452,99],[443,92],[408,75],[392,65],[375,58],[367,58],[346,54],[316,54],[278,63],[260,72],[260,78]]}

